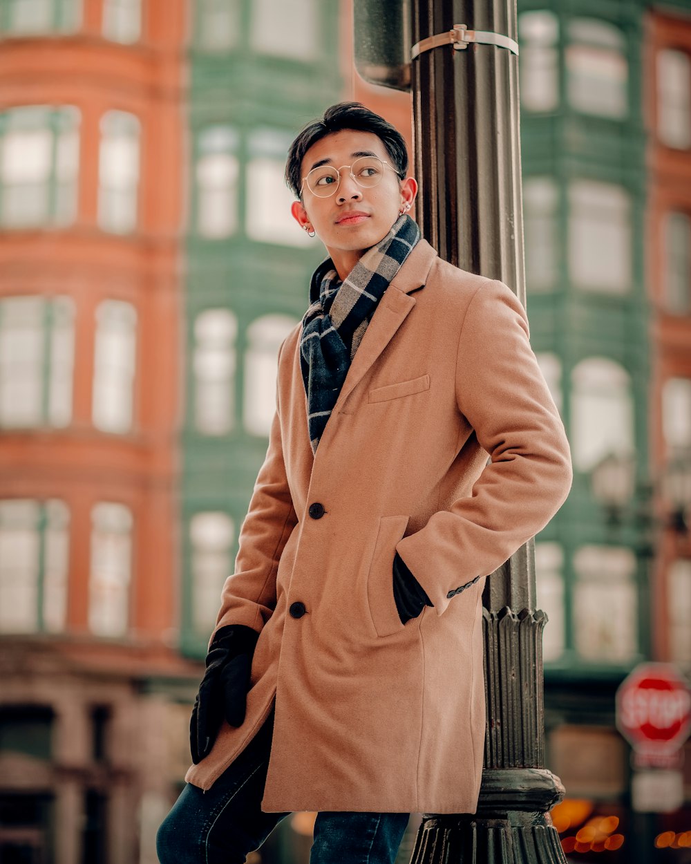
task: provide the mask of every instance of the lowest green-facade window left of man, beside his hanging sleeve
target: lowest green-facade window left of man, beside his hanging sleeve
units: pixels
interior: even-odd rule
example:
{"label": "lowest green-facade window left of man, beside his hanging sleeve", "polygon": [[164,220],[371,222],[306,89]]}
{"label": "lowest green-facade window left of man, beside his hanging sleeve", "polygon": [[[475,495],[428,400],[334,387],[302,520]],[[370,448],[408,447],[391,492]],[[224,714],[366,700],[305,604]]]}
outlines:
{"label": "lowest green-facade window left of man, beside his hanging sleeve", "polygon": [[201,636],[213,630],[223,583],[232,573],[234,526],[222,512],[197,513],[190,521],[192,626]]}

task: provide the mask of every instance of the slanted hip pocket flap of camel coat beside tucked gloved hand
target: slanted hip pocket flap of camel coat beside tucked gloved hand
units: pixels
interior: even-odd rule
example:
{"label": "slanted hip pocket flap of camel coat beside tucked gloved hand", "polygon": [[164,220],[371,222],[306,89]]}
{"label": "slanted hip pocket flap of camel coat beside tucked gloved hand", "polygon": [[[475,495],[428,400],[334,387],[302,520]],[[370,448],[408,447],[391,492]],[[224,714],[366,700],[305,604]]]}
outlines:
{"label": "slanted hip pocket flap of camel coat beside tucked gloved hand", "polygon": [[377,636],[390,636],[403,630],[394,600],[394,556],[396,544],[408,528],[408,516],[383,516],[379,519],[377,541],[367,575],[367,604]]}

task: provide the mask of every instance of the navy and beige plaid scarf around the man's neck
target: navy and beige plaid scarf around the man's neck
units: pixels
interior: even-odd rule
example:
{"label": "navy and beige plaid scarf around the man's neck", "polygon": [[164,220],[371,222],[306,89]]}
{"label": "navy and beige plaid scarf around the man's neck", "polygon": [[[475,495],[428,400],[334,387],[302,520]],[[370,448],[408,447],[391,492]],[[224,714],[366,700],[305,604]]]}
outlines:
{"label": "navy and beige plaid scarf around the man's neck", "polygon": [[420,229],[404,214],[383,240],[365,252],[343,283],[331,258],[314,270],[300,340],[313,453],[377,303],[419,239]]}

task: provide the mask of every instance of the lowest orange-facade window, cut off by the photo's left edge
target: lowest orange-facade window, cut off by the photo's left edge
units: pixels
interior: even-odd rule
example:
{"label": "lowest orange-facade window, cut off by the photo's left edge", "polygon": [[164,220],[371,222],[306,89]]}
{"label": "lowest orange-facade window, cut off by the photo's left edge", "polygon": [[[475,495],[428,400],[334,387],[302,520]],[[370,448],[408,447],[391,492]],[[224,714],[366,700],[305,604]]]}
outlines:
{"label": "lowest orange-facade window, cut off by the photo's left edge", "polygon": [[0,632],[64,629],[68,531],[62,501],[0,501]]}

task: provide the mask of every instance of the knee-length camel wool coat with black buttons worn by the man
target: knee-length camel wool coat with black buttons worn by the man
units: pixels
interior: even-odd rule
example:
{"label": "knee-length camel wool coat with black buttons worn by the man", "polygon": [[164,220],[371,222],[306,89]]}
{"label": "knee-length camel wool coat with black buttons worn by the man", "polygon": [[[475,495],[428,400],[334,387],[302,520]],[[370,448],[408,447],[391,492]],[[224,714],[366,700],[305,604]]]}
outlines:
{"label": "knee-length camel wool coat with black buttons worn by the man", "polygon": [[[453,591],[541,530],[571,483],[523,308],[421,241],[314,457],[300,335],[279,355],[269,449],[218,619],[260,632],[247,716],[187,781],[208,789],[275,702],[263,810],[473,812],[485,580]],[[396,550],[434,603],[405,626]]]}

